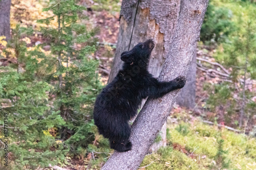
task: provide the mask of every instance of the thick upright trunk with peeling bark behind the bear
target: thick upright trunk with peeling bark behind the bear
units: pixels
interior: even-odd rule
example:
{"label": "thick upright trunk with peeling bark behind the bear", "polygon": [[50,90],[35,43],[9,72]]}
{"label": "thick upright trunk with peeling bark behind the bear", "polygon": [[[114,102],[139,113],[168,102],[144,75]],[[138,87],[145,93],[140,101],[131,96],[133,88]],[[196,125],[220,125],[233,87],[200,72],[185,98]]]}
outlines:
{"label": "thick upright trunk with peeling bark behind the bear", "polygon": [[[154,77],[159,76],[178,21],[179,11],[180,0],[122,1],[117,51],[109,82],[122,67],[121,53],[131,50],[138,42],[150,38],[154,39],[156,46],[152,51],[148,71]],[[152,151],[166,145],[166,124],[160,135],[162,140],[152,146]]]}

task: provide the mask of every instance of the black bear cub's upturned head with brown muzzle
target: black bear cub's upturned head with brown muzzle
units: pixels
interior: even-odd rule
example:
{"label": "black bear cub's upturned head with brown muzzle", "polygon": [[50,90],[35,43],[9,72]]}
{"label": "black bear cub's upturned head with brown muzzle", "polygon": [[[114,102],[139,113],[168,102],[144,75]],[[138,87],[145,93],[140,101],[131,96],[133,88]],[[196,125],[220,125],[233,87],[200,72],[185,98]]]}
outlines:
{"label": "black bear cub's upturned head with brown muzzle", "polygon": [[140,42],[133,47],[132,50],[123,52],[121,54],[121,60],[124,63],[133,65],[139,63],[148,63],[151,52],[155,47],[155,43],[152,39],[148,39],[145,42]]}

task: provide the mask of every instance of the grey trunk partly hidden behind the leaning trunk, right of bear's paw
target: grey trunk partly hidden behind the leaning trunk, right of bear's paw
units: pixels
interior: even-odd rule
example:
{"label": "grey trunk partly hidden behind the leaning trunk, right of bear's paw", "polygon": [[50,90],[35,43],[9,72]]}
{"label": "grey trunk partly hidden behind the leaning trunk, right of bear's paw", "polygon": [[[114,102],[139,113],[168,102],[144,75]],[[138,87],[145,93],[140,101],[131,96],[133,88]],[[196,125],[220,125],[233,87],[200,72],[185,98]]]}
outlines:
{"label": "grey trunk partly hidden behind the leaning trunk, right of bear's paw", "polygon": [[176,100],[180,106],[188,109],[195,107],[196,100],[196,75],[197,74],[197,48],[195,49],[190,67],[187,72],[186,85],[181,89],[181,92]]}

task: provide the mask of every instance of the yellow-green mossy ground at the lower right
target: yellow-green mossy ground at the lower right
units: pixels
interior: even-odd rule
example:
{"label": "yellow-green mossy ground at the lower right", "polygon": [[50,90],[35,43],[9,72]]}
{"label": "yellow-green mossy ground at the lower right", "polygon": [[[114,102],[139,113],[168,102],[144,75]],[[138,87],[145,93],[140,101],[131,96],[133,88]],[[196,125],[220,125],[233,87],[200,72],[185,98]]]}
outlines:
{"label": "yellow-green mossy ground at the lower right", "polygon": [[[256,139],[199,121],[167,125],[168,146],[146,155],[141,169],[256,169]],[[221,161],[218,141],[224,140]],[[222,163],[223,163],[222,162]],[[145,166],[145,167],[144,167]]]}

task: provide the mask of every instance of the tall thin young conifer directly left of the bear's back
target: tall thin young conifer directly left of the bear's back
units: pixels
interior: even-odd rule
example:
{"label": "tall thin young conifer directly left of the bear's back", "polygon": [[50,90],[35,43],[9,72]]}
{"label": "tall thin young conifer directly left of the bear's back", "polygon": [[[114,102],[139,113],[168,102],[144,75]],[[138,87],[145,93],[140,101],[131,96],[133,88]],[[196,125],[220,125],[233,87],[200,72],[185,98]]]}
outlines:
{"label": "tall thin young conifer directly left of the bear's back", "polygon": [[[66,121],[58,129],[61,139],[73,153],[94,141],[96,128],[92,122],[95,96],[101,90],[96,69],[98,62],[90,58],[96,50],[94,37],[97,29],[88,30],[77,23],[79,13],[85,10],[75,0],[51,0],[49,8],[53,16],[38,20],[50,25],[57,18],[57,28],[41,28],[42,35],[49,38],[43,45],[50,45],[51,54],[41,64],[46,72],[41,79],[54,88],[49,91],[53,106]],[[40,72],[38,72],[40,75]]]}

